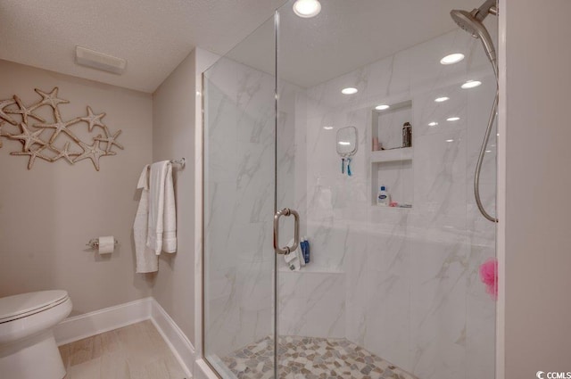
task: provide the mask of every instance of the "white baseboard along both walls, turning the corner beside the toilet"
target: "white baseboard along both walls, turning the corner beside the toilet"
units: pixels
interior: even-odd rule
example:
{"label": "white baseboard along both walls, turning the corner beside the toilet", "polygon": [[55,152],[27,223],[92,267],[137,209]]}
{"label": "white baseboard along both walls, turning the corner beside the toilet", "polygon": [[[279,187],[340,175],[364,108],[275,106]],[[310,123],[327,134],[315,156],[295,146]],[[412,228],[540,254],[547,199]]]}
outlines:
{"label": "white baseboard along both walls, turning the corner beside the toilet", "polygon": [[194,346],[169,314],[151,297],[68,317],[55,326],[55,342],[60,346],[148,319],[151,319],[190,378],[196,359]]}

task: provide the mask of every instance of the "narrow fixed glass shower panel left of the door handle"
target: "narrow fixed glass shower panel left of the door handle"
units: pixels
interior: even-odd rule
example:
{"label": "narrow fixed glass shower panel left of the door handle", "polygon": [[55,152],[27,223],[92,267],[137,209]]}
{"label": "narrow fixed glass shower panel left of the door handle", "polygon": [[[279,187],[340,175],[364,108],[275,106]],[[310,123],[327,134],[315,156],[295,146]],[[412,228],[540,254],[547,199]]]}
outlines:
{"label": "narrow fixed glass shower panel left of the door handle", "polygon": [[274,376],[274,18],[203,74],[203,354],[223,377],[253,342]]}

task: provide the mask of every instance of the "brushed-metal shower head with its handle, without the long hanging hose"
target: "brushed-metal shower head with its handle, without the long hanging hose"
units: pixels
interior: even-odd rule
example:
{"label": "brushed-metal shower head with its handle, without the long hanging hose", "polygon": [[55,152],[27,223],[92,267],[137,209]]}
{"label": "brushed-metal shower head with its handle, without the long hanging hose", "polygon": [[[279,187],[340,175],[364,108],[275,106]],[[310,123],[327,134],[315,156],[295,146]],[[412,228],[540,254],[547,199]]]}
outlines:
{"label": "brushed-metal shower head with its handle, without the long hanging hose", "polygon": [[492,62],[493,71],[497,75],[496,50],[493,47],[492,37],[490,37],[488,29],[485,29],[482,23],[489,13],[496,14],[495,0],[486,1],[480,8],[476,8],[472,12],[455,9],[450,12],[450,15],[461,29],[468,31],[472,37],[480,38],[482,45],[484,45],[485,54]]}

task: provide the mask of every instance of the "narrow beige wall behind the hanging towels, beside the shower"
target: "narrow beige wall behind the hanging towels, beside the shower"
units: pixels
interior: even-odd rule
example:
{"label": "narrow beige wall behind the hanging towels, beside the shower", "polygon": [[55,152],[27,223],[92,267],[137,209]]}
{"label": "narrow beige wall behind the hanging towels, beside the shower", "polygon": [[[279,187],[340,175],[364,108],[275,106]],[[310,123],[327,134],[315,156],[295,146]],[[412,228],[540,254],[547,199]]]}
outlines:
{"label": "narrow beige wall behind the hanging towels, beside the shower", "polygon": [[153,288],[158,301],[194,342],[194,52],[153,94],[153,161],[186,158],[175,166],[178,249],[162,254]]}

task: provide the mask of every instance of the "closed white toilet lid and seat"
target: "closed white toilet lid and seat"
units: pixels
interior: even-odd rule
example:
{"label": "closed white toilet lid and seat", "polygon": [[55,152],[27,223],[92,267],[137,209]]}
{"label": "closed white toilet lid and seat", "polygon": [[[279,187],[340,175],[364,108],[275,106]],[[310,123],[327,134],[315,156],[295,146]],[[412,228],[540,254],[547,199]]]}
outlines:
{"label": "closed white toilet lid and seat", "polygon": [[21,293],[0,299],[0,324],[50,309],[68,299],[62,290]]}

